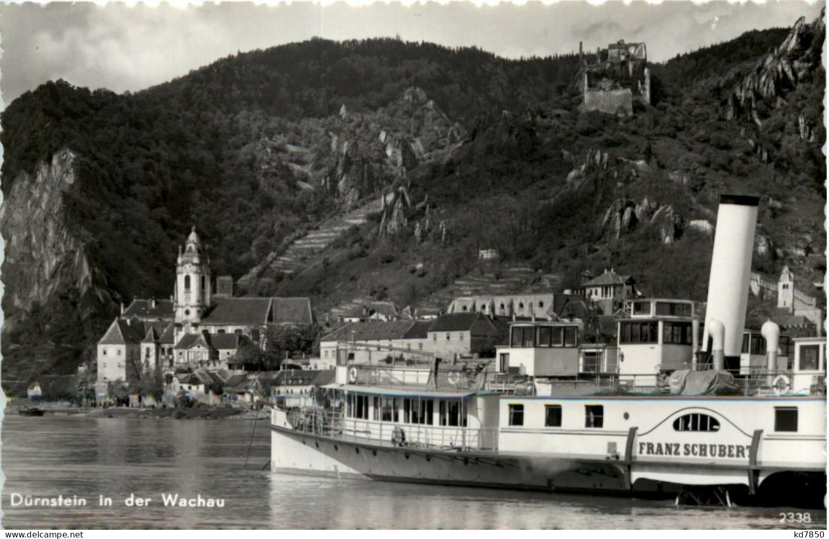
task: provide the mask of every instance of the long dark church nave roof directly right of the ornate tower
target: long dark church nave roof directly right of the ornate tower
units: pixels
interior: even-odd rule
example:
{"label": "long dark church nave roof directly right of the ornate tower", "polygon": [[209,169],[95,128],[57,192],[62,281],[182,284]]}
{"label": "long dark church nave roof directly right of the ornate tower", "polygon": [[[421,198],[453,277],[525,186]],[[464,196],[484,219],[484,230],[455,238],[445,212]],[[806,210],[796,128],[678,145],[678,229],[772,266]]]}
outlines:
{"label": "long dark church nave roof directly right of the ornate tower", "polygon": [[266,323],[313,323],[308,298],[226,298],[216,302],[202,323],[263,326]]}

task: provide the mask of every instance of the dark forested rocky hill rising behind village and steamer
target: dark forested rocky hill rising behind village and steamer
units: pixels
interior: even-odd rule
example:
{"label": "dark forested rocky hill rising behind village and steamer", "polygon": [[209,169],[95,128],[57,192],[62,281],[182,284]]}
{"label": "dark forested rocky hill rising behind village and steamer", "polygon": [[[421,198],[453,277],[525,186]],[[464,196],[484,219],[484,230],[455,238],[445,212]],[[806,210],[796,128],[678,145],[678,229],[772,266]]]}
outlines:
{"label": "dark forested rocky hill rising behind village and steamer", "polygon": [[[71,371],[119,300],[172,294],[193,223],[216,274],[246,275],[243,293],[326,308],[428,301],[479,248],[560,284],[606,266],[704,299],[700,223],[729,189],[764,195],[758,269],[812,279],[825,269],[822,27],[797,30],[799,78],[768,105],[730,94],[796,30],[653,66],[654,104],[630,119],[579,112],[577,56],[390,39],[244,53],[135,94],[41,85],[2,114],[4,377]],[[269,265],[391,192],[405,195],[305,269]]]}

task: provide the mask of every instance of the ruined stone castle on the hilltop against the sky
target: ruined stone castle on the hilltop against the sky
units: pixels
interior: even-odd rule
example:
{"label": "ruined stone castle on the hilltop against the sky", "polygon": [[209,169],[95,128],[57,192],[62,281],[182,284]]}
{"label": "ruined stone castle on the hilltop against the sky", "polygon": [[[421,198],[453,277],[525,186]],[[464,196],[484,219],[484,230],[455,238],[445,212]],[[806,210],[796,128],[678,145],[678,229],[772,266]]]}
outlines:
{"label": "ruined stone castle on the hilltop against the sky", "polygon": [[633,115],[633,100],[651,103],[651,73],[647,68],[647,46],[619,40],[596,54],[585,54],[579,42],[582,110]]}

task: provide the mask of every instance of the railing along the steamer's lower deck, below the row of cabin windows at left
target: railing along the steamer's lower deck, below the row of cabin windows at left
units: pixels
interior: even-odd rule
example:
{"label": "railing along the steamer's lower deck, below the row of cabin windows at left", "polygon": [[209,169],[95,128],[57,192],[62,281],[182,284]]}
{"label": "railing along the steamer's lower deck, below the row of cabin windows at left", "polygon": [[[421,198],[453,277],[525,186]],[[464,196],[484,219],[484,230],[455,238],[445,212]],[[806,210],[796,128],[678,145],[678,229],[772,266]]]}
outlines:
{"label": "railing along the steamer's lower deck, below the row of cabin windows at left", "polygon": [[340,410],[287,410],[285,414],[293,430],[326,438],[411,449],[497,449],[497,429],[360,420],[345,417]]}

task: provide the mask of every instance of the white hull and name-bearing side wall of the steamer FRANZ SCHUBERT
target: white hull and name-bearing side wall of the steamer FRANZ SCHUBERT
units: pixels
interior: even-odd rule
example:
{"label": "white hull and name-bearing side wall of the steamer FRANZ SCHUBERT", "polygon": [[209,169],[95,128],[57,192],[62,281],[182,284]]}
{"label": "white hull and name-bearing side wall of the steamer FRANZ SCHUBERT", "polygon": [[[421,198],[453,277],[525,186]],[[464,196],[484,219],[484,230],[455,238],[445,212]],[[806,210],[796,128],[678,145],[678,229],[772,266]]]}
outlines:
{"label": "white hull and name-bearing side wall of the steamer FRANZ SCHUBERT", "polygon": [[[569,399],[566,405],[582,406],[583,400]],[[505,399],[504,405],[507,401],[517,400]],[[529,418],[532,401],[542,405],[547,400],[520,401],[528,406]],[[634,495],[676,494],[683,488],[723,485],[736,488],[739,493],[754,495],[768,489],[774,482],[765,483],[772,477],[787,481],[794,477],[812,485],[825,484],[825,435],[806,435],[797,440],[773,435],[763,437],[758,433],[756,439],[752,439],[752,430],[742,433],[735,428],[726,428],[730,425],[726,425],[727,420],[722,415],[717,415],[723,423],[718,432],[677,433],[667,420],[673,421],[680,411],[688,410],[687,401],[670,398],[643,401],[594,398],[587,401],[604,402],[608,411],[623,406],[637,415],[662,410],[660,419],[647,428],[643,425],[642,430],[604,433],[586,430],[553,433],[548,430],[538,434],[539,430],[502,427],[501,437],[507,447],[479,451],[399,447],[379,439],[318,435],[293,430],[286,412],[274,410],[271,468],[274,472],[337,478]],[[676,410],[665,408],[671,402]],[[741,401],[725,405],[725,409],[741,410],[741,415],[750,416],[752,409],[773,410],[774,405],[773,400],[761,400],[754,405]],[[825,401],[819,399],[804,400],[800,405],[806,412],[804,415],[825,413]],[[618,415],[621,416],[621,412]],[[515,439],[515,436],[520,438]],[[692,439],[701,439],[708,448],[713,448],[709,451],[716,450],[717,454],[708,459],[685,457],[686,446],[689,454],[698,449],[688,444]],[[603,453],[608,441],[614,447],[618,446],[618,454]],[[649,443],[661,445],[653,449],[647,445]],[[779,444],[784,445],[778,448]],[[591,446],[602,449],[591,453]],[[778,449],[784,448],[791,454],[799,454],[797,462],[781,462]],[[739,454],[734,454],[735,450],[739,450]],[[719,457],[720,452],[723,452],[723,458]],[[764,454],[766,462],[762,459]],[[771,457],[774,462],[768,460]],[[817,497],[822,498],[819,493]]]}

